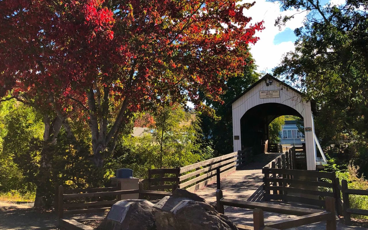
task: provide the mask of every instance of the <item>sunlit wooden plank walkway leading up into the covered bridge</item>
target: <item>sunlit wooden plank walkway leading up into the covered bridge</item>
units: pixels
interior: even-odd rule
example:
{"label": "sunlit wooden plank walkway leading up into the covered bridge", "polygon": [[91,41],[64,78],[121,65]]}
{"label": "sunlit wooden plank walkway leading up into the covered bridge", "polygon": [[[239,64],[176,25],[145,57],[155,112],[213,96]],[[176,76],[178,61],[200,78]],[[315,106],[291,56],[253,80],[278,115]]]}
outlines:
{"label": "sunlit wooden plank walkway leading up into the covered bridge", "polygon": [[[263,198],[262,168],[280,155],[282,153],[262,154],[254,160],[254,163],[250,163],[221,178],[220,185],[224,197],[260,202]],[[216,187],[215,182],[194,191],[194,193],[205,198],[206,201],[214,202],[216,201]]]}

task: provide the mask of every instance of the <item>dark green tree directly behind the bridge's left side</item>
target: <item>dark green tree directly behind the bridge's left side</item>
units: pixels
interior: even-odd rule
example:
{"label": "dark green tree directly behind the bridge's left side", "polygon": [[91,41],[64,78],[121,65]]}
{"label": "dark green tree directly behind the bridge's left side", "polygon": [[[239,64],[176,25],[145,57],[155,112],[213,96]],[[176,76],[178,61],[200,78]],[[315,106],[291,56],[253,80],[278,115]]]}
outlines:
{"label": "dark green tree directly behind the bridge's left side", "polygon": [[215,155],[233,152],[233,124],[229,103],[261,77],[256,72],[257,66],[251,54],[249,54],[246,61],[248,64],[244,66],[243,74],[230,78],[226,82],[224,94],[220,95],[224,103],[215,102],[205,97],[205,103],[216,112],[216,116],[210,117],[202,113],[200,115],[202,119],[201,128],[207,144],[212,146]]}

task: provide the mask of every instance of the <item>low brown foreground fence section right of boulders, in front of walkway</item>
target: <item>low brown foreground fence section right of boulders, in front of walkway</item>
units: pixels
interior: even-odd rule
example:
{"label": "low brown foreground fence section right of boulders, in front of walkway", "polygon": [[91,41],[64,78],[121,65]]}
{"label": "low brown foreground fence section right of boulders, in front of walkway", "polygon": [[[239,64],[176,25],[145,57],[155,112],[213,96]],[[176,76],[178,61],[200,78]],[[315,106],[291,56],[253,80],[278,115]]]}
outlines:
{"label": "low brown foreground fence section right of boulders, in front of walkway", "polygon": [[[245,226],[237,224],[238,229],[243,230],[276,230],[290,229],[306,224],[326,221],[326,230],[336,230],[336,214],[335,214],[335,199],[332,197],[325,198],[326,210],[299,208],[284,205],[264,204],[250,201],[239,201],[236,199],[226,199],[223,197],[221,190],[216,191],[216,208],[219,213],[224,214],[224,205],[237,208],[254,209],[253,211],[253,226]],[[296,215],[297,217],[287,218],[276,222],[264,223],[263,211],[274,212],[287,215]]]}

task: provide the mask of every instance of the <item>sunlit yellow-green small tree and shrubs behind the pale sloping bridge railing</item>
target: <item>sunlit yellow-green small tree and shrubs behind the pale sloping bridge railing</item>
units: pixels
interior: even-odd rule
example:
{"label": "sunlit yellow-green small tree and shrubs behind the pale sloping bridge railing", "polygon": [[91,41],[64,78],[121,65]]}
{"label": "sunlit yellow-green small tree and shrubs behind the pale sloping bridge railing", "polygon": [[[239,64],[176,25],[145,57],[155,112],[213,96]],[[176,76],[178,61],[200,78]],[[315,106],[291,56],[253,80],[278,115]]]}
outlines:
{"label": "sunlit yellow-green small tree and shrubs behind the pale sloping bridge railing", "polygon": [[118,141],[110,173],[128,167],[135,177],[145,178],[148,169],[182,167],[212,157],[213,150],[202,142],[195,114],[174,106],[159,107],[151,115],[154,122],[144,135],[125,135]]}

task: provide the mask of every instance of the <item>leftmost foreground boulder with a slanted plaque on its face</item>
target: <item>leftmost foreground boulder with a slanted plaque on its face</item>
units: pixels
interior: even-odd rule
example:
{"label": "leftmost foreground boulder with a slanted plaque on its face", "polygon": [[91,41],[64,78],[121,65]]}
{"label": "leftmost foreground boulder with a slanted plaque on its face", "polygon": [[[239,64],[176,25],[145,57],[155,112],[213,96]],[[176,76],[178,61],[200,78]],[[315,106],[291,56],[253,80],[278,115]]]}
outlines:
{"label": "leftmost foreground boulder with a slanted plaque on its face", "polygon": [[153,204],[146,200],[127,199],[116,202],[99,229],[154,230]]}

